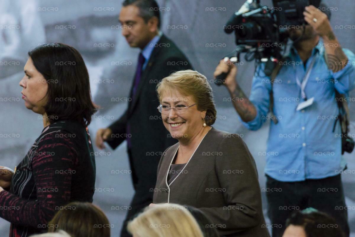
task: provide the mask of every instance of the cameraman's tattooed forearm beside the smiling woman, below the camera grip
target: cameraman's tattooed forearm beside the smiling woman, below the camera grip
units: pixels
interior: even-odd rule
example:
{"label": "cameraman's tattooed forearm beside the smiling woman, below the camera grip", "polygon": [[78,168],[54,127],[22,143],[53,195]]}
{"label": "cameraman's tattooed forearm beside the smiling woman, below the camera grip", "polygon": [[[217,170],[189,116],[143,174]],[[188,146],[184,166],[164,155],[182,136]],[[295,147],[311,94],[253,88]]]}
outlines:
{"label": "cameraman's tattooed forearm beside the smiling woman, below the camera grip", "polygon": [[256,108],[253,103],[246,97],[239,85],[235,91],[230,92],[231,100],[234,108],[244,122],[249,122],[256,117]]}

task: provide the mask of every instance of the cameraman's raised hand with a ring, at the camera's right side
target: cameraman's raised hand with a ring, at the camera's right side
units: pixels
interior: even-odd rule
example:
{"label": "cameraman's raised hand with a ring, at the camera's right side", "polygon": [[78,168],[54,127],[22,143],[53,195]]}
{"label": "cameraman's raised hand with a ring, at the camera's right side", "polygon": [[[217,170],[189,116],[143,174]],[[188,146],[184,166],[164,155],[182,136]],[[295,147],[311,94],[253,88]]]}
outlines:
{"label": "cameraman's raised hand with a ring, at the camera's right side", "polygon": [[305,16],[305,21],[313,27],[318,35],[322,38],[327,37],[329,40],[335,39],[331,23],[324,12],[321,12],[315,6],[310,5],[306,7],[303,15]]}

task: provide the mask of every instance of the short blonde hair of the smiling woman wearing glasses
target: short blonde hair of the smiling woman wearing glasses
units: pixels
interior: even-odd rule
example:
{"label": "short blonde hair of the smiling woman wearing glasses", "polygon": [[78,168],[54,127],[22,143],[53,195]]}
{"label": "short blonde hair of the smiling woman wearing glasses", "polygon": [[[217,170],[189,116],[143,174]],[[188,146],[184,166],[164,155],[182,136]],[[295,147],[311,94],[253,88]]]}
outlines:
{"label": "short blonde hair of the smiling woman wearing glasses", "polygon": [[192,96],[199,111],[206,112],[206,124],[214,124],[217,111],[213,101],[212,88],[207,78],[193,70],[182,70],[163,78],[157,85],[159,101],[162,101],[163,93],[169,89],[178,90],[185,96]]}

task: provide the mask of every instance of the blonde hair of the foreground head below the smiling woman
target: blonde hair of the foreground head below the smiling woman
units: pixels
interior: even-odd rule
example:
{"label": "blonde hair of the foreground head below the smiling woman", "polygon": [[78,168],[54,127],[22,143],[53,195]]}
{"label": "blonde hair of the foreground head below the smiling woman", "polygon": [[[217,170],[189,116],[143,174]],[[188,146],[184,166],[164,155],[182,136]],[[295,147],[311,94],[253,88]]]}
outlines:
{"label": "blonde hair of the foreground head below the smiling woman", "polygon": [[178,204],[156,204],[147,207],[127,225],[132,235],[144,237],[203,237],[192,214]]}

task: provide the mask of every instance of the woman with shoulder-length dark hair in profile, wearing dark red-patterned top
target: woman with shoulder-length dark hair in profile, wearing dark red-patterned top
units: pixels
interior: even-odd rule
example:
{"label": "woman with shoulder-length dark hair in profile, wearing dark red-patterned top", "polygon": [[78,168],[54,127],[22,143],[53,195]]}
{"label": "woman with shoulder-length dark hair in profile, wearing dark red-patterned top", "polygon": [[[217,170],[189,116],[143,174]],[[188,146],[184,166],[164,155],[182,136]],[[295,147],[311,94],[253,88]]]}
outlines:
{"label": "woman with shoulder-length dark hair in profile, wearing dark red-patterned top", "polygon": [[87,126],[96,107],[80,53],[55,43],[28,55],[22,99],[43,115],[44,129],[15,171],[0,170],[0,217],[11,222],[10,237],[44,232],[61,206],[92,202],[95,184]]}

